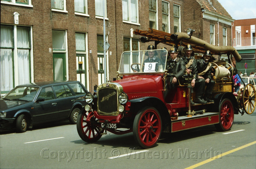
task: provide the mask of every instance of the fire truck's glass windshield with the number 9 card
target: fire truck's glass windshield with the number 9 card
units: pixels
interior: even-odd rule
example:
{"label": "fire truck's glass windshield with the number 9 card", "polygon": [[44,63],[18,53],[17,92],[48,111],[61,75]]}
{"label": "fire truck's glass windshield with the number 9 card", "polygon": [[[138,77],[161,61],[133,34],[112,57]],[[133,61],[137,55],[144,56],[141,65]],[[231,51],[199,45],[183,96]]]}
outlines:
{"label": "fire truck's glass windshield with the number 9 card", "polygon": [[119,73],[164,72],[167,56],[166,49],[123,52]]}

